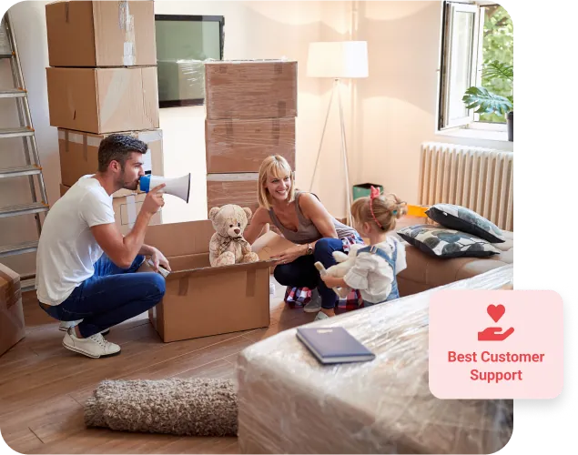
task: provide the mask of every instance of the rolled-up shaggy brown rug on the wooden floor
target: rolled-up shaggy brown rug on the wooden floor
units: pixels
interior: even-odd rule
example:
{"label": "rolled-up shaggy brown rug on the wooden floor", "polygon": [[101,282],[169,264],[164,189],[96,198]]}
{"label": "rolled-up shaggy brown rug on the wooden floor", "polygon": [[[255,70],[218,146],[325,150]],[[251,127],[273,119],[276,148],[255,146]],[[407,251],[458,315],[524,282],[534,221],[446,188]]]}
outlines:
{"label": "rolled-up shaggy brown rug on the wooden floor", "polygon": [[230,379],[104,380],[86,400],[87,427],[179,436],[236,436]]}

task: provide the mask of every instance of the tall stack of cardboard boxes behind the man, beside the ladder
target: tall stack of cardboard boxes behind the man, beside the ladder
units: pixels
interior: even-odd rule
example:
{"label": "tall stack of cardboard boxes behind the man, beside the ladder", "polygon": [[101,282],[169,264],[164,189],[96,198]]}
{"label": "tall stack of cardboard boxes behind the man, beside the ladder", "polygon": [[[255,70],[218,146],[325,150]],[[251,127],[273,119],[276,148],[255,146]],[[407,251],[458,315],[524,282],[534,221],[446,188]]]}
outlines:
{"label": "tall stack of cardboard boxes behind the man, beside the ladder", "polygon": [[[145,171],[163,175],[158,129],[157,48],[151,0],[64,0],[46,5],[50,125],[58,127],[61,196],[98,169],[98,146],[112,133],[148,145]],[[126,233],[145,194],[113,195]],[[151,224],[161,222],[160,212]]]}

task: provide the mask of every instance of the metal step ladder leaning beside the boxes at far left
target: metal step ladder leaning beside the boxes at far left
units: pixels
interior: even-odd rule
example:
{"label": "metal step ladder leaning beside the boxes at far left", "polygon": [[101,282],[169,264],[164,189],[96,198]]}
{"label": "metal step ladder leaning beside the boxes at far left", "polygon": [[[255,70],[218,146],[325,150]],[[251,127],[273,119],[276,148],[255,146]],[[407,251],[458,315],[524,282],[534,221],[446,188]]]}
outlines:
{"label": "metal step ladder leaning beside the boxes at far left", "polygon": [[[0,22],[0,59],[9,60],[12,69],[12,79],[14,88],[0,90],[0,98],[14,98],[18,110],[20,126],[3,127],[0,125],[0,139],[8,137],[21,137],[24,146],[25,166],[6,168],[2,165],[0,157],[0,179],[15,177],[28,177],[30,195],[32,201],[27,204],[9,205],[0,207],[0,218],[2,217],[22,217],[34,215],[38,238],[42,230],[40,215],[48,211],[48,199],[46,197],[46,187],[42,175],[42,167],[38,157],[36,147],[35,130],[32,125],[32,117],[28,106],[28,94],[25,89],[22,67],[18,57],[18,49],[15,41],[15,33],[10,23],[9,14],[6,12]],[[5,152],[5,150],[4,150]],[[5,152],[6,153],[6,152]],[[37,195],[36,193],[40,194]],[[38,241],[27,241],[17,245],[0,245],[0,261],[2,258],[25,253],[33,253],[38,247]],[[32,290],[35,288],[35,274],[21,277],[22,290]]]}

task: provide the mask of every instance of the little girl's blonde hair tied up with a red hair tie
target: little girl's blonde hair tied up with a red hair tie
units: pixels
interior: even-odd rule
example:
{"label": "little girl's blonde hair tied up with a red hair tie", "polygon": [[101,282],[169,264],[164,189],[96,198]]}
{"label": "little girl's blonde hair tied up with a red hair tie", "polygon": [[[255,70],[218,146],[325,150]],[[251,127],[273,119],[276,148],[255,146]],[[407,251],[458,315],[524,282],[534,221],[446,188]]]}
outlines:
{"label": "little girl's blonde hair tied up with a red hair tie", "polygon": [[407,213],[407,203],[393,193],[375,197],[373,201],[370,197],[360,197],[351,205],[351,216],[358,223],[370,223],[370,226],[386,232],[395,228],[396,220]]}

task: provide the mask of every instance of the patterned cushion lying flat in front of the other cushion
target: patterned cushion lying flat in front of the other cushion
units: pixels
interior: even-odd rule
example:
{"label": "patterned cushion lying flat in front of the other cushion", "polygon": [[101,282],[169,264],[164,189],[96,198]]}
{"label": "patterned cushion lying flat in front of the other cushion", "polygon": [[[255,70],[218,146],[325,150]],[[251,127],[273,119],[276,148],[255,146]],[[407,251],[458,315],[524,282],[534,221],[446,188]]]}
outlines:
{"label": "patterned cushion lying flat in front of the other cushion", "polygon": [[422,224],[403,227],[397,233],[410,245],[436,258],[483,258],[500,254],[487,240],[447,227]]}

